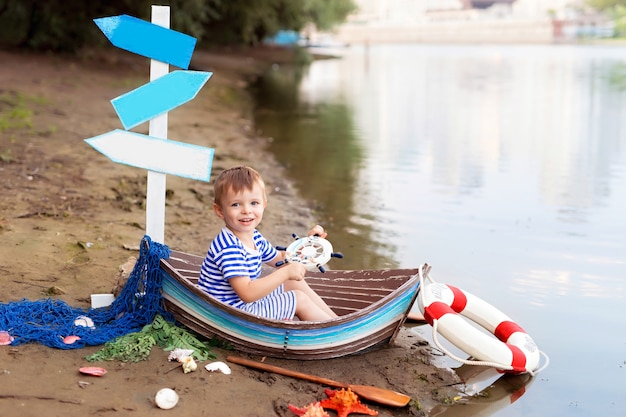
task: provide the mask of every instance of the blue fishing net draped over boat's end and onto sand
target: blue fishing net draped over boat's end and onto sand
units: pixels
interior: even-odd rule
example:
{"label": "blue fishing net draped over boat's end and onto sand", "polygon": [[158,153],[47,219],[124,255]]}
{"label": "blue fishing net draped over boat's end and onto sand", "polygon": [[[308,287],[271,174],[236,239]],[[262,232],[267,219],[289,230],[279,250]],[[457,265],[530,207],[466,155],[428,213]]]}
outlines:
{"label": "blue fishing net draped over boat's end and onto sand", "polygon": [[[173,321],[163,308],[159,273],[160,259],[169,256],[166,245],[152,242],[146,235],[128,281],[110,306],[76,308],[51,298],[0,303],[0,331],[6,331],[14,338],[12,345],[34,342],[59,349],[76,349],[101,345],[118,336],[140,331],[153,322],[156,314]],[[68,340],[68,336],[79,339]],[[73,343],[66,343],[72,339],[75,340]]]}

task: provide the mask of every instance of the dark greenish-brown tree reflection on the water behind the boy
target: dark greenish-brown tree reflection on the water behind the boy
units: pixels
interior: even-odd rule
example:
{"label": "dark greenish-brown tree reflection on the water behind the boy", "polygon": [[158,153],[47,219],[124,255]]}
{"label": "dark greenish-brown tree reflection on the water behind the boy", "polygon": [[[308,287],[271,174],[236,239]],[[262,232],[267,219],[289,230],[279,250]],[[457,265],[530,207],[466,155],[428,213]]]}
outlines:
{"label": "dark greenish-brown tree reflection on the water behind the boy", "polygon": [[[342,103],[301,100],[301,71],[272,71],[254,86],[255,94],[263,97],[256,123],[264,135],[274,138],[271,151],[289,168],[301,193],[323,213],[326,228],[344,231],[345,235],[333,233],[334,248],[348,259],[358,259],[361,268],[388,264],[385,258],[394,247],[372,243],[373,216],[352,210],[366,204],[363,194],[347,192],[359,187],[363,160],[350,109]],[[280,92],[283,89],[288,91]]]}

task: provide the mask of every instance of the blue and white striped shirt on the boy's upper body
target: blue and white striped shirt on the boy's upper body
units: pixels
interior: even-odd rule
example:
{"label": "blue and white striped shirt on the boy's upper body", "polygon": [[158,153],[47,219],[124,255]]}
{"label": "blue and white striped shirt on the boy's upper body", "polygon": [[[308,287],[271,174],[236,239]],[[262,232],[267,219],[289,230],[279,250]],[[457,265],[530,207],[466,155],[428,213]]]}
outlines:
{"label": "blue and white striped shirt on the boy's upper body", "polygon": [[224,303],[243,307],[246,303],[239,298],[228,280],[241,276],[257,279],[261,275],[263,263],[271,261],[278,254],[258,230],[254,231],[253,240],[256,249],[246,248],[233,232],[226,227],[222,228],[211,242],[202,262],[198,287]]}

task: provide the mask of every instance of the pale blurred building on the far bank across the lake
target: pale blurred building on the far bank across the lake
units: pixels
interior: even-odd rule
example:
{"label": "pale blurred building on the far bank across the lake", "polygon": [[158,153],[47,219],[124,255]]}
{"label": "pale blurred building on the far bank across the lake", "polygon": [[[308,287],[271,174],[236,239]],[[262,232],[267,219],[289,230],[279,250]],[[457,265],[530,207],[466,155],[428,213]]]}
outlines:
{"label": "pale blurred building on the far bank across the lake", "polygon": [[611,22],[584,0],[354,0],[334,33],[342,43],[554,43],[610,37]]}

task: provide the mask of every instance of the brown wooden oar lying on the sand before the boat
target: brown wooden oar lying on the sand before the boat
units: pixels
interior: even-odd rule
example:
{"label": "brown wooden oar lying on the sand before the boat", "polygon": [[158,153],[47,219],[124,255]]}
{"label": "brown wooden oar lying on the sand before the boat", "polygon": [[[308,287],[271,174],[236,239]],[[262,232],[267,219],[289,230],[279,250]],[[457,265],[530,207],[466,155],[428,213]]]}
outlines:
{"label": "brown wooden oar lying on the sand before the boat", "polygon": [[333,381],[332,379],[322,378],[318,376],[303,374],[302,372],[291,371],[289,369],[280,368],[274,365],[268,365],[262,362],[256,362],[245,358],[229,356],[226,358],[228,362],[236,363],[250,368],[261,369],[263,371],[274,372],[276,374],[290,376],[293,378],[304,379],[306,381],[317,382],[319,384],[328,385],[335,388],[350,388],[355,394],[379,404],[389,405],[392,407],[404,407],[411,401],[408,395],[391,391],[384,388],[372,387],[369,385],[353,385],[344,384],[342,382]]}

